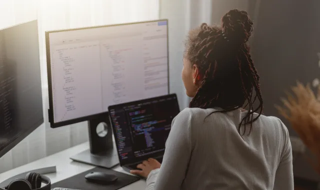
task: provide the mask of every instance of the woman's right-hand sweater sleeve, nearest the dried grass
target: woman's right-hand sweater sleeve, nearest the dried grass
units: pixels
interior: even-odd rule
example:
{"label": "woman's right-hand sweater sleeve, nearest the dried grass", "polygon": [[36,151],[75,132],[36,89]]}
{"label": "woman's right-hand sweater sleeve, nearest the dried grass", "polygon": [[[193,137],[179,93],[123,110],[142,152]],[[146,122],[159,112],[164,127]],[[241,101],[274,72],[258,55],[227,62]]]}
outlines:
{"label": "woman's right-hand sweater sleeve, nearest the dried grass", "polygon": [[284,146],[281,160],[275,172],[274,190],[292,189],[293,185],[293,166],[292,166],[292,148],[289,138],[289,132],[286,126],[280,121],[283,130]]}

